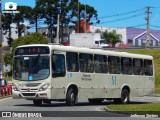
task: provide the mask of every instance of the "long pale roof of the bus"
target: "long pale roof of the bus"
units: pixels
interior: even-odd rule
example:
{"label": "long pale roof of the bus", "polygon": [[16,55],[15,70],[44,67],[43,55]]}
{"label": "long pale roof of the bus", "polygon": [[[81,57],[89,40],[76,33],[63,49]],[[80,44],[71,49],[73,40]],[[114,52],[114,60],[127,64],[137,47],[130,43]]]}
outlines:
{"label": "long pale roof of the bus", "polygon": [[90,49],[90,48],[74,47],[74,46],[54,45],[54,44],[29,44],[29,45],[18,46],[17,48],[31,47],[31,46],[48,46],[51,50],[66,51],[66,52],[79,52],[79,53],[111,55],[111,56],[129,57],[129,58],[153,59],[153,57],[150,55],[133,54],[128,52],[118,52],[118,51],[110,51],[102,49]]}

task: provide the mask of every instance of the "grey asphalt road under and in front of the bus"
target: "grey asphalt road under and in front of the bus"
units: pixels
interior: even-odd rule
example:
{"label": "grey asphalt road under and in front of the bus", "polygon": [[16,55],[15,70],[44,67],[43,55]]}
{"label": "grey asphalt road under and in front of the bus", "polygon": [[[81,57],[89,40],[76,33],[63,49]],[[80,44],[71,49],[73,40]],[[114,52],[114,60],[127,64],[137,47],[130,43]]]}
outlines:
{"label": "grey asphalt road under and in front of the bus", "polygon": [[[131,99],[132,103],[160,103],[159,96],[148,96]],[[111,101],[104,101],[101,105],[91,105],[87,100],[80,100],[77,105],[69,107],[64,102],[52,102],[52,104],[43,104],[34,106],[32,101],[24,99],[5,98],[0,100],[0,119],[33,119],[33,120],[155,120],[154,118],[131,117],[131,114],[120,114],[115,112],[103,111],[103,108],[113,104]],[[3,113],[2,113],[3,112]],[[6,112],[11,113],[12,118],[2,117]],[[17,116],[19,115],[19,116]],[[38,118],[32,118],[33,116]],[[42,116],[42,118],[41,118]],[[30,117],[30,118],[28,118]]]}

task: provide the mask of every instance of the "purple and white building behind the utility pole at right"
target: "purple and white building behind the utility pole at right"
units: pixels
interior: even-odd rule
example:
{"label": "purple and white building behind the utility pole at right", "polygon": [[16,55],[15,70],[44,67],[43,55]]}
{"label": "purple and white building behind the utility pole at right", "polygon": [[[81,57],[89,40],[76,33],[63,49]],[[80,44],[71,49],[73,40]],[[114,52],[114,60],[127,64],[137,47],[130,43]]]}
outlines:
{"label": "purple and white building behind the utility pole at right", "polygon": [[[117,34],[122,35],[123,44],[131,44],[134,47],[143,47],[146,43],[146,29],[141,28],[111,28],[111,27],[102,27],[102,26],[90,26],[91,32],[99,29],[104,32],[115,30]],[[160,30],[150,30],[150,46],[157,47],[160,45]]]}

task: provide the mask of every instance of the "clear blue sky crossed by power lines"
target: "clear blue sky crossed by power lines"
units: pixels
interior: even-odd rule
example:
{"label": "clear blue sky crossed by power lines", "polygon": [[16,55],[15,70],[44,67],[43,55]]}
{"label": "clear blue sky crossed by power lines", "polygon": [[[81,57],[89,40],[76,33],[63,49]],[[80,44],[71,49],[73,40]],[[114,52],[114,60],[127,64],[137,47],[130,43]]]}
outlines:
{"label": "clear blue sky crossed by power lines", "polygon": [[[100,24],[107,27],[146,28],[147,7],[150,7],[150,28],[160,30],[160,0],[79,0],[97,10]],[[2,9],[6,2],[34,7],[35,0],[2,0]]]}

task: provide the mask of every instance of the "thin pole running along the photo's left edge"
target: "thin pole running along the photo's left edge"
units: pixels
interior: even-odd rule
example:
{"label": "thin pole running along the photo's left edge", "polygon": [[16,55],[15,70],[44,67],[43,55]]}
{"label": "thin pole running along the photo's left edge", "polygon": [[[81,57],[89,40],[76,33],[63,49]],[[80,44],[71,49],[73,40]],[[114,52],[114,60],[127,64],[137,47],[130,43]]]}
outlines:
{"label": "thin pole running along the photo's left edge", "polygon": [[0,80],[3,79],[2,52],[2,0],[0,0]]}

